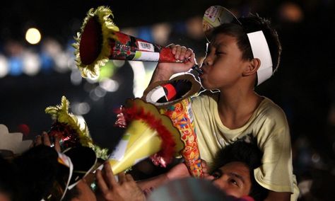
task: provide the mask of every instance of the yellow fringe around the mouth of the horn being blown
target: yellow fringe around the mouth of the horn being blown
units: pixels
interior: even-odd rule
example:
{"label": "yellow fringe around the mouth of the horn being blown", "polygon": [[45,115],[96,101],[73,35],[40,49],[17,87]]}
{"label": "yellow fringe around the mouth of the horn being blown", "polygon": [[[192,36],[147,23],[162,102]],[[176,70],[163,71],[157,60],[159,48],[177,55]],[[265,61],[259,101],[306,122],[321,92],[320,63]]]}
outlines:
{"label": "yellow fringe around the mouth of the horn being blown", "polygon": [[[110,45],[108,42],[108,38],[113,38],[114,40],[117,40],[117,38],[114,35],[114,31],[119,31],[119,28],[117,25],[115,25],[112,22],[112,19],[114,18],[112,11],[110,8],[106,6],[99,6],[94,10],[94,8],[90,8],[90,11],[88,11],[86,18],[83,21],[83,25],[81,26],[81,32],[77,33],[77,36],[74,38],[76,42],[72,45],[75,48],[75,56],[76,56],[76,64],[78,69],[81,71],[81,76],[87,77],[88,74],[90,76],[98,76],[99,75],[99,68],[104,66],[106,62],[109,60],[110,56]],[[90,18],[97,17],[98,21],[101,25],[102,29],[102,50],[99,54],[99,56],[95,59],[95,61],[92,64],[83,64],[81,62],[81,55],[79,52],[79,45],[81,42],[81,33],[83,33],[83,30],[90,20]]]}

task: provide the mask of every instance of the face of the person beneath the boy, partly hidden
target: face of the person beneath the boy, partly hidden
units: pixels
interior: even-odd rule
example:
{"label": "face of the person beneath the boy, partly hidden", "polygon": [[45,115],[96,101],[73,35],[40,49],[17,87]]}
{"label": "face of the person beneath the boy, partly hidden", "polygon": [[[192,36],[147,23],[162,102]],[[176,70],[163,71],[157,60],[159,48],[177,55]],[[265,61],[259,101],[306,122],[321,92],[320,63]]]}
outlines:
{"label": "face of the person beneath the boy, partly hidden", "polygon": [[213,183],[227,195],[242,197],[249,195],[252,181],[249,168],[242,162],[230,162],[214,171]]}

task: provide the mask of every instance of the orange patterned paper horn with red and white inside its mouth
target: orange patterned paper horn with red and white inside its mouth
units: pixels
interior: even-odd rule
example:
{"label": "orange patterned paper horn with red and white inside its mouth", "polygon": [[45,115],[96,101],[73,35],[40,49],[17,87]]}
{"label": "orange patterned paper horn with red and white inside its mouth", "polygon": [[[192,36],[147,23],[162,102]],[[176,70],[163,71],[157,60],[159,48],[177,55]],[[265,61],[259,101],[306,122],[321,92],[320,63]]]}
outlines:
{"label": "orange patterned paper horn with red and white inside its mouth", "polygon": [[146,89],[143,99],[160,108],[180,131],[184,149],[181,151],[189,172],[194,177],[202,177],[200,152],[194,131],[193,115],[189,97],[201,88],[193,74],[175,76],[169,81],[158,81]]}

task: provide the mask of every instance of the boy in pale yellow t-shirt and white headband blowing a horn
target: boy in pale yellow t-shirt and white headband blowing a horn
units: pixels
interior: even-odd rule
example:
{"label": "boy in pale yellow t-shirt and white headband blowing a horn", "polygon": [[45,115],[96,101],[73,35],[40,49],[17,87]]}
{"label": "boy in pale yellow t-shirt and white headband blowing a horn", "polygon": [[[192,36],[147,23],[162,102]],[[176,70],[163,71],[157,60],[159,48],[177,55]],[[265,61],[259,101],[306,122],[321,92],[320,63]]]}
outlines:
{"label": "boy in pale yellow t-shirt and white headband blowing a horn", "polygon": [[[257,40],[252,38],[253,33]],[[259,45],[259,41],[265,45]],[[152,82],[167,80],[195,64],[192,50],[179,45],[171,48],[176,59],[190,58],[189,61],[159,63]],[[258,57],[259,52],[268,54]],[[269,21],[259,16],[220,25],[213,30],[201,66],[204,74],[200,76],[204,88],[220,92],[206,92],[192,98],[192,111],[201,159],[211,164],[218,150],[252,133],[264,153],[262,165],[254,170],[254,176],[269,190],[266,200],[296,200],[298,188],[293,176],[286,115],[269,98],[254,92],[254,86],[276,71],[280,54],[276,31],[270,28]],[[269,61],[271,68],[264,71],[264,64]]]}

